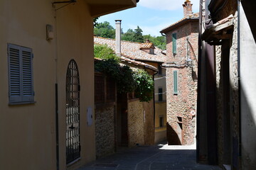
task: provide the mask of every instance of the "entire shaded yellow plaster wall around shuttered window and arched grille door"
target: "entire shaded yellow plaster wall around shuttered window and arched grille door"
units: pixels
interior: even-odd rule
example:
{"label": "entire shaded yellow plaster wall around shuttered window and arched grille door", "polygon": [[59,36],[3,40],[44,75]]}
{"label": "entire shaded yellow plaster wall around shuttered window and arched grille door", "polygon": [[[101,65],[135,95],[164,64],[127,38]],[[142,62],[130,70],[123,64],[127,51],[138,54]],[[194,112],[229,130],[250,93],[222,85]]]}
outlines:
{"label": "entire shaded yellow plaster wall around shuttered window and arched grille door", "polygon": [[[80,72],[82,151],[80,162],[69,169],[95,159],[95,127],[94,124],[87,127],[86,116],[87,107],[94,110],[92,18],[85,1],[61,8],[56,15],[51,2],[0,1],[0,169],[56,169],[56,82],[59,88],[60,169],[67,169],[65,75],[71,59],[78,63]],[[46,40],[46,24],[53,25],[53,40]],[[9,106],[7,43],[33,50],[34,104]]]}

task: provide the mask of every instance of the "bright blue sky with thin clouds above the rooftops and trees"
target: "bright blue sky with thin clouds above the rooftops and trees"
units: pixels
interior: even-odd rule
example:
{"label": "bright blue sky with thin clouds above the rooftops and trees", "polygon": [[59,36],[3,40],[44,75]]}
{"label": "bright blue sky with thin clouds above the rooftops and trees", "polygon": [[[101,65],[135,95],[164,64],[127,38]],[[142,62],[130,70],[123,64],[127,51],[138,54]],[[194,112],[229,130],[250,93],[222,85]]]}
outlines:
{"label": "bright blue sky with thin clouds above the rooftops and trees", "polygon": [[[139,26],[143,35],[160,36],[160,30],[183,18],[183,2],[185,0],[140,0],[135,8],[101,16],[98,22],[110,22],[114,26],[114,20],[122,20],[122,29],[133,30]],[[193,12],[199,11],[199,0],[191,0]]]}

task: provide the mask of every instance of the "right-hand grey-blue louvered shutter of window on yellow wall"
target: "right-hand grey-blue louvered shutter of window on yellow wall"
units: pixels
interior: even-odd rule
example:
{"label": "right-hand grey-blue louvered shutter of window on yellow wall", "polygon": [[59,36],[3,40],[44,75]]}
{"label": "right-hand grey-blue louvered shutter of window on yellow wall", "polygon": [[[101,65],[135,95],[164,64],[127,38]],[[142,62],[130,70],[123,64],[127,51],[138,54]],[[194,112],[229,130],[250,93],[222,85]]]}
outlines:
{"label": "right-hand grey-blue louvered shutter of window on yellow wall", "polygon": [[22,101],[33,101],[32,50],[21,47],[22,52]]}

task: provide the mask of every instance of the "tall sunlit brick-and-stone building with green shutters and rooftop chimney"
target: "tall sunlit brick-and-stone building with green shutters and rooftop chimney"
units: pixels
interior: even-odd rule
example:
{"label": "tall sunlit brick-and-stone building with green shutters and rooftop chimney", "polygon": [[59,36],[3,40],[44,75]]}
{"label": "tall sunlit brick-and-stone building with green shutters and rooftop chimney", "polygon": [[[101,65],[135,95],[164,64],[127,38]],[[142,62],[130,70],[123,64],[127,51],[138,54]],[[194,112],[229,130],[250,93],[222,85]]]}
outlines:
{"label": "tall sunlit brick-and-stone building with green shutters and rooftop chimney", "polygon": [[196,137],[198,13],[185,1],[184,18],[161,30],[166,35],[166,107],[169,145],[192,145]]}

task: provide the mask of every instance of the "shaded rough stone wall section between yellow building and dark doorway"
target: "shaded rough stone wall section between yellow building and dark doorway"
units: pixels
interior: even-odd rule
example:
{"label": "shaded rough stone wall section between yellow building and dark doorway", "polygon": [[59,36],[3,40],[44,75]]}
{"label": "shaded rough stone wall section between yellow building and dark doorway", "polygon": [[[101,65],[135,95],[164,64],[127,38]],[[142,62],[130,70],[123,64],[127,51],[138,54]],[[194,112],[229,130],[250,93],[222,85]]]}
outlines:
{"label": "shaded rough stone wall section between yellow building and dark doorway", "polygon": [[114,153],[114,111],[115,106],[95,109],[96,157]]}

